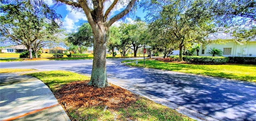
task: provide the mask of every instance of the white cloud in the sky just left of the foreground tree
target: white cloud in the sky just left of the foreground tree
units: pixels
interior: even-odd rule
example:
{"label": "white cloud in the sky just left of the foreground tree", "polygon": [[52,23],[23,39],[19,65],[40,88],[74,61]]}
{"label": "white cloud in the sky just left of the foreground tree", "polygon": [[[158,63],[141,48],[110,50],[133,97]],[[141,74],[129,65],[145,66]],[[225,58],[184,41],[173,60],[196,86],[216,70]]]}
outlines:
{"label": "white cloud in the sky just left of the foreground tree", "polygon": [[86,15],[84,12],[80,12],[78,10],[72,10],[72,7],[69,5],[66,5],[66,10],[68,11],[68,14],[64,18],[63,26],[67,30],[74,30],[77,28],[75,25],[79,20],[87,20]]}

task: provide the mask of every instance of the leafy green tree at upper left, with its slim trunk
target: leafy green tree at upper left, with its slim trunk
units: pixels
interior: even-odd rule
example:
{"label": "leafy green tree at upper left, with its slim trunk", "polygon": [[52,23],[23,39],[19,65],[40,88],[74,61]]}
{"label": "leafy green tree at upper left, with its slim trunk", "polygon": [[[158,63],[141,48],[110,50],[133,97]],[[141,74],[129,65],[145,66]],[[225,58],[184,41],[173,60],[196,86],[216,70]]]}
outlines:
{"label": "leafy green tree at upper left, with its slim trunk", "polygon": [[0,34],[16,44],[26,46],[32,59],[32,49],[43,45],[48,34],[59,28],[61,17],[44,0],[2,0],[0,5]]}

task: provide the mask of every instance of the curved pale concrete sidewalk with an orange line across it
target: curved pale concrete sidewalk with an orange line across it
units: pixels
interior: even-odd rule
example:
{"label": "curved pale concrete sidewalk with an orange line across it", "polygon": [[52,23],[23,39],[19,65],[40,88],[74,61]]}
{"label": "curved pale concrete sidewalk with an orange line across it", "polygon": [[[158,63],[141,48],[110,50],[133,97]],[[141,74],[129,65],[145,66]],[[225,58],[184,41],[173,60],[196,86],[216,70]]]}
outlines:
{"label": "curved pale concrete sidewalk with an orange line across it", "polygon": [[52,91],[39,79],[0,73],[0,121],[70,121]]}

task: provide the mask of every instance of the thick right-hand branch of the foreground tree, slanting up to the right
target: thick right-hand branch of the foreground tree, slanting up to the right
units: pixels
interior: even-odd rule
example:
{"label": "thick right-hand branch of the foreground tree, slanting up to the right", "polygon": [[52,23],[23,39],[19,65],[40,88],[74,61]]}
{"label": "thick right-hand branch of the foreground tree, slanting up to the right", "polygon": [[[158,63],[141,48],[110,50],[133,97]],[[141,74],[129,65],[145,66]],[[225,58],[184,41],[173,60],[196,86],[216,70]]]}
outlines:
{"label": "thick right-hand branch of the foreground tree, slanting up to the right", "polygon": [[132,7],[134,6],[136,0],[131,0],[129,2],[129,4],[126,6],[126,8],[120,12],[119,14],[117,14],[116,16],[114,16],[113,18],[111,18],[106,24],[107,27],[110,27],[114,22],[116,22],[117,20],[119,20],[120,18],[124,17],[126,14],[128,14],[128,12],[130,12],[130,10],[132,9]]}

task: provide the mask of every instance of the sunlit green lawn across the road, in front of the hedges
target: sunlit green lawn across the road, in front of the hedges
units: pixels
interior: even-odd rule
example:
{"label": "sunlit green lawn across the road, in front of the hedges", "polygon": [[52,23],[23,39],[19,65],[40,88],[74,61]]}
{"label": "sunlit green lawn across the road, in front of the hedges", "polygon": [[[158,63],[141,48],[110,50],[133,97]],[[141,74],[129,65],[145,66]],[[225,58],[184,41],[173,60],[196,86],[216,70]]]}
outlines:
{"label": "sunlit green lawn across the road, in front of the hedges", "polygon": [[138,65],[136,63],[127,63],[127,65],[256,82],[256,65],[196,65],[165,63],[155,60],[146,60],[145,66],[143,61],[139,61]]}

